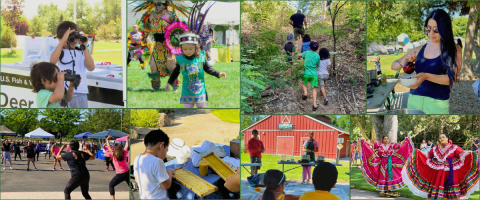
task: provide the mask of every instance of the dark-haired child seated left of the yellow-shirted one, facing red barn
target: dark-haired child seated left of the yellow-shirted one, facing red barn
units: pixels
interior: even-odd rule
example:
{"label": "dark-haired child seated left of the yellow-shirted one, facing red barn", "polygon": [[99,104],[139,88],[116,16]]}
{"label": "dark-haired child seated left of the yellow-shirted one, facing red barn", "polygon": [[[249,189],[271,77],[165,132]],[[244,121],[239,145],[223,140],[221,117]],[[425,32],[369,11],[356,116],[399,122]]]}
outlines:
{"label": "dark-haired child seated left of the yellow-shirted one, facing red barn", "polygon": [[269,169],[265,172],[263,182],[265,184],[265,192],[259,200],[297,200],[294,195],[285,194],[285,180],[287,177],[283,172],[276,169]]}

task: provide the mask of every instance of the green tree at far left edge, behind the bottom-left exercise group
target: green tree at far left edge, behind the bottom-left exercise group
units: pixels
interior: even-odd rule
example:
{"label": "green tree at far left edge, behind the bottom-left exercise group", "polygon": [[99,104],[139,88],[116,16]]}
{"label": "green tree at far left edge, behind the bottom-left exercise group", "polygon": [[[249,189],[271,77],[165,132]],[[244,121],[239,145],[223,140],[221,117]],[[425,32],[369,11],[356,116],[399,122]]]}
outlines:
{"label": "green tree at far left edge, behind the bottom-left exercise group", "polygon": [[39,114],[37,109],[5,109],[2,124],[23,138],[26,133],[38,127]]}

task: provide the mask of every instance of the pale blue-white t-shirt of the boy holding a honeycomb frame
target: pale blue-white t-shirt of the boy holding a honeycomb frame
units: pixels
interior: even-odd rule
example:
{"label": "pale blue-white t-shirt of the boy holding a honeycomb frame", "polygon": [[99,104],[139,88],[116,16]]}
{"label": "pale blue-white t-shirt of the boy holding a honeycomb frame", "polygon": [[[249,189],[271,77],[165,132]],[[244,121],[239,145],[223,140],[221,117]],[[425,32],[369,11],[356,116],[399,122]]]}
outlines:
{"label": "pale blue-white t-shirt of the boy holding a honeycomb frame", "polygon": [[133,167],[140,199],[169,199],[167,191],[160,186],[160,183],[169,178],[162,159],[150,154],[140,154],[135,158]]}

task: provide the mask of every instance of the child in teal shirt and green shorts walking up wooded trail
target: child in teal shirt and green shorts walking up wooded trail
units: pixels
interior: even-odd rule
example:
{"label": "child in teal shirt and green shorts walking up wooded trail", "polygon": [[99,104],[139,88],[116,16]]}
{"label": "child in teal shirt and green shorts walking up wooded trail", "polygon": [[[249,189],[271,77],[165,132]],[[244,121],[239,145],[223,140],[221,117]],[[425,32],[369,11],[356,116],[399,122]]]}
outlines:
{"label": "child in teal shirt and green shorts walking up wooded trail", "polygon": [[312,111],[317,111],[319,104],[317,104],[317,66],[320,65],[320,56],[315,51],[318,50],[318,43],[311,41],[309,45],[309,51],[305,51],[299,56],[302,56],[305,68],[303,69],[303,95],[302,100],[307,100],[307,84],[310,82],[312,86],[313,94],[313,107]]}

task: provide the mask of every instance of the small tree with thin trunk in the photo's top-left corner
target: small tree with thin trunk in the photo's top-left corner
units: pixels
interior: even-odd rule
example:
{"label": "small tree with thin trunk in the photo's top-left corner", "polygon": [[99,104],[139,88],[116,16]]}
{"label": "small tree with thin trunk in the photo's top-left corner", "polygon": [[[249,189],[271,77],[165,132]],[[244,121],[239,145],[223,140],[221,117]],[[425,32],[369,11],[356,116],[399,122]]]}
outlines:
{"label": "small tree with thin trunk in the photo's top-left corner", "polygon": [[[2,17],[5,24],[12,30],[15,29],[15,23],[23,15],[24,0],[5,0],[2,5]],[[10,52],[13,53],[13,31],[10,35]]]}

